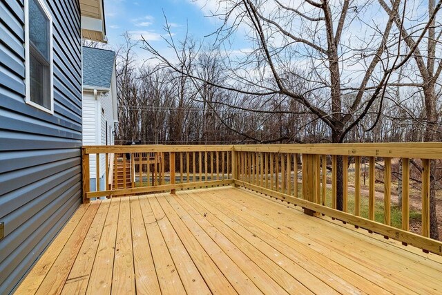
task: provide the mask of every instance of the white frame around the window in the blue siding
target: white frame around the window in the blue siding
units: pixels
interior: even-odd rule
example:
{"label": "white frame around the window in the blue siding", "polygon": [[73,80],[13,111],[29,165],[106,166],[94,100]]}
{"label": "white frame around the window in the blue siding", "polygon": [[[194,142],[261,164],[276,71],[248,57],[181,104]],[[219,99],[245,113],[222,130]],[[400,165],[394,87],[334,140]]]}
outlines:
{"label": "white frame around the window in the blue siding", "polygon": [[32,102],[30,100],[30,40],[29,40],[29,1],[24,0],[25,4],[25,102],[30,106],[38,108],[40,111],[44,111],[46,113],[54,114],[54,59],[53,59],[53,31],[52,31],[52,15],[50,14],[50,10],[44,0],[34,0],[40,6],[41,10],[43,10],[46,17],[49,20],[49,84],[50,84],[50,108],[46,108],[37,104],[36,102]]}

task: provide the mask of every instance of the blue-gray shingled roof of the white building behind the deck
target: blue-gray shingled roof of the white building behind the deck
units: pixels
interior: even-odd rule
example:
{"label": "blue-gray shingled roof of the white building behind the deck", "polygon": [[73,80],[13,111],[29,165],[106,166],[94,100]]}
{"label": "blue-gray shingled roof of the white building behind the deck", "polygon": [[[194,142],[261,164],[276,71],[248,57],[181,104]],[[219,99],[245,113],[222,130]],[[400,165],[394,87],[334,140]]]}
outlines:
{"label": "blue-gray shingled roof of the white building behind the deck", "polygon": [[110,88],[115,52],[83,47],[83,85]]}

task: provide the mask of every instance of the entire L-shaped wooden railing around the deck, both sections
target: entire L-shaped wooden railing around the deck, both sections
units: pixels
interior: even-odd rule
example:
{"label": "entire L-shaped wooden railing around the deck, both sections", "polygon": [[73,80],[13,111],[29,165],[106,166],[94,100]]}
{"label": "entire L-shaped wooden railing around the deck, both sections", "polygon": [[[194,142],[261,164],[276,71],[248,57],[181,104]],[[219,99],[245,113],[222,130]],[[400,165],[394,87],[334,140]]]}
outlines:
{"label": "entire L-shaped wooden railing around the deck, both sections", "polygon": [[[86,179],[88,158],[92,155],[98,161],[97,153],[131,154],[138,174],[136,187],[92,192],[85,181],[84,201],[233,184],[298,205],[311,216],[323,214],[442,254],[442,243],[429,238],[430,166],[442,173],[441,143],[85,146]],[[342,174],[338,173],[341,163]],[[342,211],[338,174],[343,180]],[[393,184],[401,188],[394,199]]]}

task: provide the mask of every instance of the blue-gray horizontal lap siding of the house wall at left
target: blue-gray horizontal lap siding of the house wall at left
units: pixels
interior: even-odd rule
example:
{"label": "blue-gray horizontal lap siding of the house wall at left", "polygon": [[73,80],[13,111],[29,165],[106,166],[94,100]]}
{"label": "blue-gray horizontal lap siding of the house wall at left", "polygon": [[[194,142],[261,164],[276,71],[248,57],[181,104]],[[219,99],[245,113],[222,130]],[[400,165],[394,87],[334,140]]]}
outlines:
{"label": "blue-gray horizontal lap siding of the house wall at left", "polygon": [[46,1],[54,115],[24,102],[23,0],[0,2],[0,294],[17,287],[81,202],[79,3]]}

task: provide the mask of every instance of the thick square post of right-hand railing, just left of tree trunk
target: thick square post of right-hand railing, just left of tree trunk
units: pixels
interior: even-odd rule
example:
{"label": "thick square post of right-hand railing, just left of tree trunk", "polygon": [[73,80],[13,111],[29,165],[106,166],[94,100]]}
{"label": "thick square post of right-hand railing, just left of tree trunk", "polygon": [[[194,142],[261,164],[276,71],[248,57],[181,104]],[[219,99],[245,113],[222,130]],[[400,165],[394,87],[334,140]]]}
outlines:
{"label": "thick square post of right-hand railing, just left of tree trunk", "polygon": [[[302,154],[302,196],[304,200],[316,203],[316,155]],[[304,208],[309,216],[319,216],[316,211]]]}

